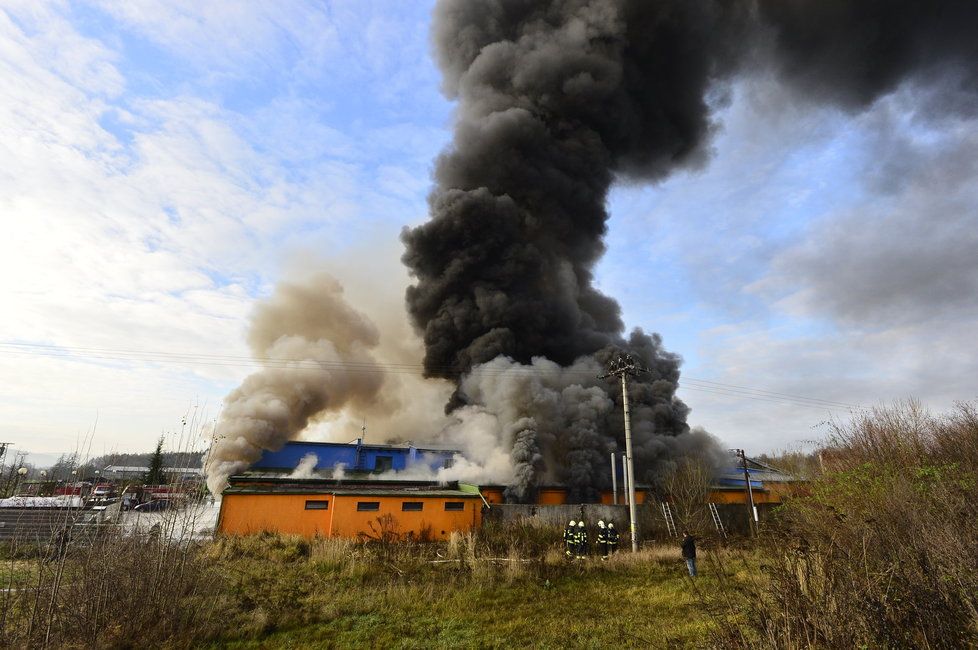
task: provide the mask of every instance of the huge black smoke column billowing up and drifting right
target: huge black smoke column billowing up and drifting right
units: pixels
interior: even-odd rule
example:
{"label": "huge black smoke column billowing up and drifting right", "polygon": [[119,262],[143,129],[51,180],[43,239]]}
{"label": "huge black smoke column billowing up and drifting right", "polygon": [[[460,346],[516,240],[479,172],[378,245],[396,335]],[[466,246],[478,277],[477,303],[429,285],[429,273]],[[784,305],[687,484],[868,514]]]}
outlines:
{"label": "huge black smoke column billowing up and drifting right", "polygon": [[[416,280],[407,304],[424,337],[426,373],[459,381],[447,409],[480,405],[460,377],[500,357],[529,370],[540,357],[593,368],[628,351],[651,371],[631,391],[639,476],[654,480],[660,461],[702,446],[675,395],[680,359],[657,335],[626,338],[618,304],[593,286],[612,182],[657,181],[704,164],[724,86],[755,67],[773,69],[800,96],[850,110],[908,78],[947,71],[970,92],[976,8],[932,0],[439,2],[434,42],[445,91],[458,101],[455,136],[436,164],[431,219],[403,233],[403,259]],[[575,413],[581,396],[568,394],[560,408],[530,402],[507,416],[518,496],[544,478],[592,498],[609,482],[607,452],[622,447],[620,394],[579,376],[547,390],[597,388],[604,407]]]}

